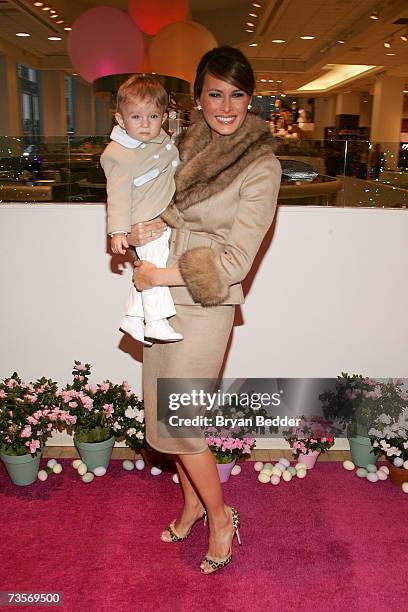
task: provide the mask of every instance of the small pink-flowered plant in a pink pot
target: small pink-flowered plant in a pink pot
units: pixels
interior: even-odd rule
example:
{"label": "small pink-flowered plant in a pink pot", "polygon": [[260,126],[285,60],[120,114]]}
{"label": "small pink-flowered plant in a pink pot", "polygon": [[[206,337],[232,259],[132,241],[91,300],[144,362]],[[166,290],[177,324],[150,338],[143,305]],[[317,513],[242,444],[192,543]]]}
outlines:
{"label": "small pink-flowered plant in a pink pot", "polygon": [[297,461],[305,463],[308,469],[311,469],[320,453],[325,453],[333,446],[333,427],[319,416],[301,418],[297,427],[291,427],[282,433]]}

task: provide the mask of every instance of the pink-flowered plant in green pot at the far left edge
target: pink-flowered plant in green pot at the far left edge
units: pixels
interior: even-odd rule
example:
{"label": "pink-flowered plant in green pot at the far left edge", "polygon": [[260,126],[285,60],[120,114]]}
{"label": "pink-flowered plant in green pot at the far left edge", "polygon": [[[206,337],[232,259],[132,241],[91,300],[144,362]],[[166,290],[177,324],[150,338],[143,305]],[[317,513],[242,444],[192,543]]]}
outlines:
{"label": "pink-flowered plant in green pot at the far left edge", "polygon": [[14,372],[0,383],[0,453],[14,484],[35,481],[45,441],[57,426],[72,422],[58,407],[54,381],[25,383]]}

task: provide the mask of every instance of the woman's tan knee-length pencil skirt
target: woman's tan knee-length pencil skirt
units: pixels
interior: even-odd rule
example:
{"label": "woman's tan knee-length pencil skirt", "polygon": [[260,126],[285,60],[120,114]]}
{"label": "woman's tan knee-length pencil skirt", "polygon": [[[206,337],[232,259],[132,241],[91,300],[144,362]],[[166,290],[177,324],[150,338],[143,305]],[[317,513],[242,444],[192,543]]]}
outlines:
{"label": "woman's tan knee-length pencil skirt", "polygon": [[207,448],[204,435],[172,437],[157,415],[157,379],[208,378],[219,375],[234,321],[234,305],[203,308],[176,304],[177,314],[169,319],[183,334],[180,342],[157,343],[143,349],[143,398],[146,440],[163,453],[194,454]]}

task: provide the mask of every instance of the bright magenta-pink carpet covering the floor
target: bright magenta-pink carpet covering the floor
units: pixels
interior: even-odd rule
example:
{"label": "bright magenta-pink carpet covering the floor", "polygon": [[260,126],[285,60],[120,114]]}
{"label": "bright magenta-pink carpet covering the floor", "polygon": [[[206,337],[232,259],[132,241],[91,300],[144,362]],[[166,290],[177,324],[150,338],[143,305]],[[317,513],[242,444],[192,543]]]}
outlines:
{"label": "bright magenta-pink carpet covering the floor", "polygon": [[202,524],[186,542],[158,539],[181,505],[169,474],[112,461],[85,485],[62,463],[60,476],[28,487],[0,467],[0,591],[62,591],[58,609],[69,612],[407,609],[408,495],[388,480],[371,484],[324,462],[274,487],[245,464],[224,485],[243,545],[235,541],[228,568],[202,576]]}

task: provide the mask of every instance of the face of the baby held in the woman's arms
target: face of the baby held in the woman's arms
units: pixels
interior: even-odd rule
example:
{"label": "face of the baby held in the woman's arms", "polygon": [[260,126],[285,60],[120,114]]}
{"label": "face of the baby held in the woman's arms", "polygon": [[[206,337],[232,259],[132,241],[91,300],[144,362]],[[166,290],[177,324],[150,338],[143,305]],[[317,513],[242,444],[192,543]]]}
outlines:
{"label": "face of the baby held in the woman's arms", "polygon": [[123,104],[115,118],[131,138],[148,142],[159,134],[167,113],[162,113],[150,100],[133,98]]}

